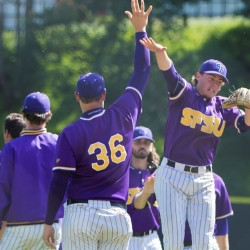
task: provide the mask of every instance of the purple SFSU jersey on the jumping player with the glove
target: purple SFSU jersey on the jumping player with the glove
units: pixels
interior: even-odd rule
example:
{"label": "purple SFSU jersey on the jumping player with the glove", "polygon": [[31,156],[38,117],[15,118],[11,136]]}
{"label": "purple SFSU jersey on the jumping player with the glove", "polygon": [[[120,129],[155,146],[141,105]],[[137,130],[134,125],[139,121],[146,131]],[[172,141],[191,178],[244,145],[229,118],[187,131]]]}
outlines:
{"label": "purple SFSU jersey on the jumping player with the glove", "polygon": [[163,75],[168,85],[178,82],[184,85],[177,96],[169,97],[164,156],[192,166],[212,164],[224,128],[241,132],[237,120],[244,112],[237,107],[222,109],[224,97],[207,100],[199,95],[195,87],[175,71],[174,65],[163,71]]}

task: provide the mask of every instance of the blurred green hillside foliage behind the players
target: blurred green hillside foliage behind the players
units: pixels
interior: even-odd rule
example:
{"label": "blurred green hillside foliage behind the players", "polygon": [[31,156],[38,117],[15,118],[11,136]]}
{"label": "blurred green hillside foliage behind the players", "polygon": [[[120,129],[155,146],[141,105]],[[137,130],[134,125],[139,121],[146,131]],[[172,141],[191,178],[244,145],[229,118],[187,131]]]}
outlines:
{"label": "blurred green hillside foliage behind the players", "polygon": [[[176,69],[188,81],[201,63],[215,58],[228,68],[230,89],[247,87],[250,67],[250,21],[244,18],[189,19],[171,22],[171,29],[154,19],[148,35],[167,47]],[[22,34],[22,39],[24,34]],[[34,29],[29,43],[15,47],[15,35],[4,33],[4,61],[7,85],[0,93],[2,121],[10,112],[19,112],[27,94],[45,92],[51,99],[53,118],[47,128],[60,133],[63,127],[77,119],[80,108],[74,99],[78,77],[87,72],[104,76],[107,101],[110,105],[124,91],[133,71],[134,31],[131,24],[111,16],[99,16],[91,22],[58,24]],[[155,57],[143,99],[143,113],[138,125],[152,129],[156,148],[163,157],[163,137],[167,116],[167,91]],[[3,145],[3,141],[1,141]],[[231,195],[250,194],[249,133],[239,135],[225,131],[214,163]]]}

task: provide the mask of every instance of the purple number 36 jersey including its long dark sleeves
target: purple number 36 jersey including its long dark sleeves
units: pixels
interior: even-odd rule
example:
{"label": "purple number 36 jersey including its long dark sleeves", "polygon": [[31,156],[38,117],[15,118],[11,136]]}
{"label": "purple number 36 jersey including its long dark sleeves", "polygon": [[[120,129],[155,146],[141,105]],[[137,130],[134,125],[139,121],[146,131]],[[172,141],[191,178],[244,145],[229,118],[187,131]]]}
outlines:
{"label": "purple number 36 jersey including its long dark sleeves", "polygon": [[[69,199],[126,202],[133,131],[150,72],[149,50],[139,42],[144,37],[145,32],[136,33],[134,72],[120,98],[107,109],[83,113],[59,135],[47,224],[52,223],[62,190],[67,189]],[[66,176],[66,181],[58,185],[62,178],[57,176]]]}

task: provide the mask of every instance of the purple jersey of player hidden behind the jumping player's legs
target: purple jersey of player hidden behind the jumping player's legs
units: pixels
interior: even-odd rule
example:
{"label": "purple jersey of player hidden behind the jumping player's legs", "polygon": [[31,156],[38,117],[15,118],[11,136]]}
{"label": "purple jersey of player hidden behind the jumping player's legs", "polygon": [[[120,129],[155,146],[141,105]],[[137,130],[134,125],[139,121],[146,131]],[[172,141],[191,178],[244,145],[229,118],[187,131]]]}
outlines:
{"label": "purple jersey of player hidden behind the jumping player's legs", "polygon": [[[215,185],[215,193],[216,193],[216,220],[215,220],[215,229],[214,235],[217,235],[217,223],[218,220],[227,218],[228,216],[233,215],[233,209],[230,202],[230,198],[227,192],[227,188],[225,186],[224,181],[222,178],[213,173],[214,177],[214,185]],[[186,221],[186,228],[185,228],[185,242],[191,242],[191,232]]]}

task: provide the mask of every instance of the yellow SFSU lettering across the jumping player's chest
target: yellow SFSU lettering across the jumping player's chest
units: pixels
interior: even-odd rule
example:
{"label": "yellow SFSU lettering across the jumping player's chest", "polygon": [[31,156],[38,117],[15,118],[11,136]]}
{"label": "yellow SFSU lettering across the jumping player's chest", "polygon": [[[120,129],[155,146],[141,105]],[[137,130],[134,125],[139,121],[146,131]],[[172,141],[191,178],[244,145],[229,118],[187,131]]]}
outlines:
{"label": "yellow SFSU lettering across the jumping player's chest", "polygon": [[214,134],[216,137],[221,137],[225,129],[226,122],[214,116],[208,116],[200,111],[191,108],[184,108],[182,111],[183,117],[181,124],[190,128],[196,128],[196,125],[201,125],[200,130],[207,134]]}

